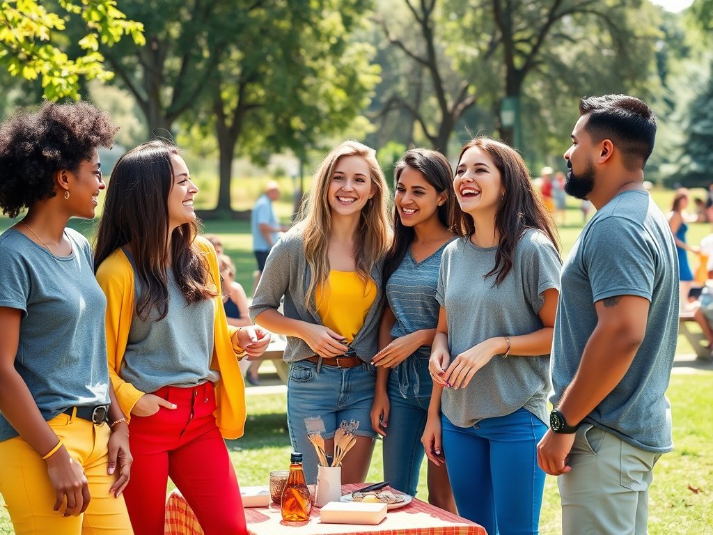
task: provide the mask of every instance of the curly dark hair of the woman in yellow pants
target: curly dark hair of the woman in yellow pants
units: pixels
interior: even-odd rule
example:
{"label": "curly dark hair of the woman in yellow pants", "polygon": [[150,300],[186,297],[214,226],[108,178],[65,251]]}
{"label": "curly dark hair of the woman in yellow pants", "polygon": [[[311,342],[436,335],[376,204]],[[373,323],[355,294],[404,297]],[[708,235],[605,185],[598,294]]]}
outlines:
{"label": "curly dark hair of the woman in yellow pants", "polygon": [[20,109],[0,126],[0,208],[16,218],[56,195],[53,173],[76,171],[92,150],[111,148],[119,127],[87,102]]}

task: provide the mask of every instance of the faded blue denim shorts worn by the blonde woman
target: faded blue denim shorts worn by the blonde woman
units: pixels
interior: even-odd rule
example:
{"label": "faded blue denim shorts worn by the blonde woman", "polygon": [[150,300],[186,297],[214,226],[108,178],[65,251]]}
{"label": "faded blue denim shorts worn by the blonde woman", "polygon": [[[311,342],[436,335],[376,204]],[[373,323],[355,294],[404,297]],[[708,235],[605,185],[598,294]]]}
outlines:
{"label": "faded blue denim shorts worn by the blonde woman", "polygon": [[354,434],[376,437],[371,428],[375,387],[376,370],[366,362],[352,368],[322,365],[319,371],[317,362],[309,360],[289,364],[289,441],[295,452],[302,452],[302,470],[307,484],[317,483],[318,463],[317,452],[307,439],[307,431],[320,431],[324,439],[331,439],[342,420],[354,420],[359,422],[359,429]]}

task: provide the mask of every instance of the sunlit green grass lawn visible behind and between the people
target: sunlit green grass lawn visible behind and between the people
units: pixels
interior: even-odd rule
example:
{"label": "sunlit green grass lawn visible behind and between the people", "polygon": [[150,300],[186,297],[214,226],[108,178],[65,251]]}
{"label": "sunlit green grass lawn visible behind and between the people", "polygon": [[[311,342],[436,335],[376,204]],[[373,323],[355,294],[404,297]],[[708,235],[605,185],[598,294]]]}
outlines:
{"label": "sunlit green grass lawn visible behind and between the people", "polygon": [[[260,188],[250,189],[253,198]],[[699,191],[692,192],[701,196]],[[663,210],[670,207],[673,192],[655,190],[654,198]],[[245,199],[243,199],[245,202]],[[569,200],[565,225],[560,225],[563,255],[566,255],[580,234],[582,216],[578,202]],[[292,213],[289,193],[277,203],[279,217],[285,223]],[[14,222],[0,218],[0,232]],[[71,226],[86,235],[91,234],[92,224],[71,221]],[[708,223],[693,223],[689,230],[689,243],[697,244],[711,231]],[[227,254],[237,266],[237,281],[245,290],[252,292],[252,256],[249,223],[245,221],[208,221],[205,232],[217,233],[222,238]],[[697,266],[695,255],[690,255],[691,265]],[[688,342],[679,339],[678,352],[692,353]],[[673,374],[668,396],[671,399],[674,419],[674,452],[662,457],[654,471],[654,483],[650,494],[651,535],[664,534],[711,534],[713,535],[713,372],[698,371],[689,374]],[[252,394],[247,397],[248,419],[245,437],[228,441],[230,455],[237,469],[241,484],[267,484],[271,469],[289,465],[289,436],[285,417],[284,394]],[[381,481],[381,442],[376,445],[369,472],[370,481]],[[426,495],[425,475],[422,470],[419,497]],[[0,496],[0,503],[1,496]],[[540,519],[540,533],[560,534],[560,508],[555,478],[548,477],[545,500]],[[0,510],[0,535],[12,534],[9,519]]]}

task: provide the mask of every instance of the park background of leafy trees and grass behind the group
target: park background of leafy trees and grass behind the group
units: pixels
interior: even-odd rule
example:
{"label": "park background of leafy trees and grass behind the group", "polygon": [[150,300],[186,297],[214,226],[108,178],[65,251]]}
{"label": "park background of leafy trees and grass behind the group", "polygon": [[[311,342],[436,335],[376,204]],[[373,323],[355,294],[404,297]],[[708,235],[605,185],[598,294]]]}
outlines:
{"label": "park background of leafy trees and grass behind the group", "polygon": [[[455,163],[463,141],[494,136],[536,177],[565,170],[581,96],[623,92],[659,118],[646,169],[658,205],[670,209],[677,185],[704,198],[712,39],[713,0],[3,0],[0,119],[43,98],[92,101],[121,127],[101,152],[107,175],[125,149],[175,139],[205,231],[220,235],[250,294],[257,196],[277,180],[289,223],[314,166],[344,138],[376,148],[390,178],[406,148]],[[0,231],[13,223],[0,218]],[[71,221],[89,238],[93,224]],[[568,199],[563,255],[582,228]],[[689,242],[710,231],[692,224]],[[692,352],[680,339],[678,354]],[[674,368],[676,449],[655,469],[651,534],[713,534],[712,379],[708,362]],[[241,484],[265,484],[289,461],[286,400],[247,392],[245,437],[228,445]],[[382,479],[380,442],[369,479]],[[559,514],[548,477],[540,532],[559,534]],[[11,533],[0,511],[0,534]]]}

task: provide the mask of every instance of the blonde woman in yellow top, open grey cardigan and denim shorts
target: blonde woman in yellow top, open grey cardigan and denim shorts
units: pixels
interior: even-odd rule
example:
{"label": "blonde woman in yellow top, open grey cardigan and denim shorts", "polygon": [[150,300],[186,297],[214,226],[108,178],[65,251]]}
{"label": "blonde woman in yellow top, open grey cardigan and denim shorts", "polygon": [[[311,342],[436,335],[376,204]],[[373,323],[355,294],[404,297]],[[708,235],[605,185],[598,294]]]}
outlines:
{"label": "blonde woman in yellow top, open grey cardigan and denim shorts", "polygon": [[334,148],[317,168],[299,223],[272,248],[250,307],[253,321],[287,335],[289,436],[304,454],[308,483],[317,479],[317,454],[307,430],[322,431],[329,454],[342,420],[359,422],[342,482],[369,472],[387,198],[373,149],[356,141]]}

